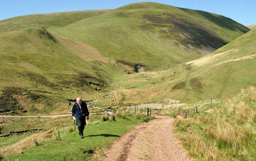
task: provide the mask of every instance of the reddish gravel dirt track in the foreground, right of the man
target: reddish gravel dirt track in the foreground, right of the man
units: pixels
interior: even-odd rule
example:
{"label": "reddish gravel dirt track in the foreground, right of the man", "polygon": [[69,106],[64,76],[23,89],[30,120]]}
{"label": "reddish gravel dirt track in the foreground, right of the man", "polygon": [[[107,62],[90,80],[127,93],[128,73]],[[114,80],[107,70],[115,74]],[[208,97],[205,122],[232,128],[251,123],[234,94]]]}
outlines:
{"label": "reddish gravel dirt track in the foreground, right of the man", "polygon": [[156,117],[115,141],[103,161],[192,161],[173,133],[170,117]]}

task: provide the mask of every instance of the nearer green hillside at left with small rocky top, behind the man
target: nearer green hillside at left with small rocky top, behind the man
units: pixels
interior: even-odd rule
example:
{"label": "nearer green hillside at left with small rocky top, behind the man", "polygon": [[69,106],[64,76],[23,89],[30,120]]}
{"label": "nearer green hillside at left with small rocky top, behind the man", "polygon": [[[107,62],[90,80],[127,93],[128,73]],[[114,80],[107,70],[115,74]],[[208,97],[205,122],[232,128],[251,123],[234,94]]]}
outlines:
{"label": "nearer green hillside at left with small rocky top, behind the man", "polygon": [[107,87],[119,68],[90,59],[92,47],[80,48],[70,51],[39,27],[0,34],[0,112],[63,113],[68,99],[90,100],[88,93]]}

